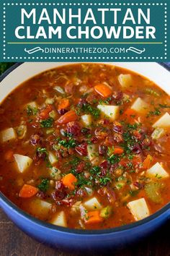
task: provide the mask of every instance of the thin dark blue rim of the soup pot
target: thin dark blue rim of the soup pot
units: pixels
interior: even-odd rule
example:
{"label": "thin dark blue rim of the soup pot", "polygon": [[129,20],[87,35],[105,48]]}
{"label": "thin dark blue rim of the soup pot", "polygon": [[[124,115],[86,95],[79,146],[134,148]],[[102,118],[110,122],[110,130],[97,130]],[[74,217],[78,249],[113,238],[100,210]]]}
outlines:
{"label": "thin dark blue rim of the soup pot", "polygon": [[[19,67],[20,65],[24,64],[24,62],[18,62],[16,64],[14,64],[12,67],[9,67],[9,69],[6,70],[6,72],[4,72],[3,74],[1,74],[0,76],[0,82],[2,80],[4,80],[4,78],[10,73],[12,72],[14,69],[17,69],[17,67]],[[163,62],[158,63],[159,65],[161,65],[162,67],[164,67],[165,69],[167,69],[170,72],[170,67],[168,65],[166,65]],[[1,200],[10,208],[12,208],[12,210],[14,210],[14,212],[16,212],[17,214],[19,214],[19,216],[21,216],[24,219],[28,219],[29,221],[31,221],[32,223],[35,223],[38,226],[42,226],[45,229],[49,229],[49,230],[53,230],[53,231],[60,231],[62,233],[69,233],[72,235],[104,235],[104,234],[115,234],[115,233],[119,233],[122,231],[127,231],[127,230],[132,230],[135,228],[138,228],[140,226],[142,226],[143,224],[147,224],[150,221],[156,220],[156,218],[161,217],[161,215],[163,213],[166,213],[166,211],[168,211],[170,209],[170,202],[168,204],[166,204],[163,208],[161,208],[160,210],[156,211],[156,213],[151,214],[151,216],[148,216],[147,218],[144,218],[143,220],[140,221],[135,221],[133,223],[130,224],[125,224],[124,226],[118,226],[115,228],[110,228],[110,229],[70,229],[70,228],[66,228],[66,227],[61,227],[61,226],[55,226],[51,223],[47,223],[45,221],[40,221],[38,218],[35,218],[33,216],[31,216],[29,213],[25,212],[24,210],[20,209],[17,205],[15,205],[11,200],[9,200],[1,191],[0,191],[0,202]]]}

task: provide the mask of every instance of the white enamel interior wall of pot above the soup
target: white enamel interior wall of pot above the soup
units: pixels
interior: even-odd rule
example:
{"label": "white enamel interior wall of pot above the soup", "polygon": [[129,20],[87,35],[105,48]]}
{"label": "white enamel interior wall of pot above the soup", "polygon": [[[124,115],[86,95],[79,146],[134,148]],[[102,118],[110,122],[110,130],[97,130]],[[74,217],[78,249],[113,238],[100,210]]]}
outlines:
{"label": "white enamel interior wall of pot above the soup", "polygon": [[[0,82],[0,102],[25,80],[45,70],[66,64],[73,64],[73,62],[25,62]],[[142,74],[170,94],[170,72],[156,62],[107,62],[106,64],[124,67]]]}

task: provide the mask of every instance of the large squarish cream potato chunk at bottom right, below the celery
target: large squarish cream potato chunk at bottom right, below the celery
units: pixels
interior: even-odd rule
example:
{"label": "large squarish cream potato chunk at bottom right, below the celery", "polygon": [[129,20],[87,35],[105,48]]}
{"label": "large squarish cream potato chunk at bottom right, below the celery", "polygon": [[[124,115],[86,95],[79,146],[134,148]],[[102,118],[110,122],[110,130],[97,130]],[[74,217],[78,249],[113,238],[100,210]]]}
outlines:
{"label": "large squarish cream potato chunk at bottom right, below the celery", "polygon": [[136,221],[140,221],[150,215],[148,205],[146,204],[146,200],[144,198],[128,202],[127,206]]}

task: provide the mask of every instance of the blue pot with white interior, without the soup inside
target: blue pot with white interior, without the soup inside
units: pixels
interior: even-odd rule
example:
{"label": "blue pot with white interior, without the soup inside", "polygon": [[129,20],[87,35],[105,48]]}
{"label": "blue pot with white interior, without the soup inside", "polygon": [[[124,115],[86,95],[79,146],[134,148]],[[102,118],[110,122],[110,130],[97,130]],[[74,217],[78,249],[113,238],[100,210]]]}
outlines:
{"label": "blue pot with white interior, without the soup inside", "polygon": [[[70,63],[23,63],[15,64],[1,76],[0,102],[17,85],[40,72]],[[158,63],[107,63],[133,70],[150,80],[170,94],[170,72]],[[109,249],[135,242],[161,226],[170,218],[170,203],[148,218],[114,229],[79,230],[68,229],[45,223],[25,213],[0,192],[0,206],[6,215],[26,234],[38,241],[61,249]]]}

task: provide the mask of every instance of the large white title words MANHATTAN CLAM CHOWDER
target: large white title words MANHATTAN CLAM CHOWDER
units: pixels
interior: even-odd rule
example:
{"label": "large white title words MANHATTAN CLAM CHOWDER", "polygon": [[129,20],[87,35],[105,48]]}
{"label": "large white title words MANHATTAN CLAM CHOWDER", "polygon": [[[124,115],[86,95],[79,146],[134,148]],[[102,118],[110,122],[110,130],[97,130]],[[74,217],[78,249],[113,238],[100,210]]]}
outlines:
{"label": "large white title words MANHATTAN CLAM CHOWDER", "polygon": [[[111,21],[111,22],[110,22]],[[29,12],[22,8],[15,28],[17,39],[155,39],[156,27],[151,25],[151,9],[42,8]]]}

